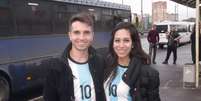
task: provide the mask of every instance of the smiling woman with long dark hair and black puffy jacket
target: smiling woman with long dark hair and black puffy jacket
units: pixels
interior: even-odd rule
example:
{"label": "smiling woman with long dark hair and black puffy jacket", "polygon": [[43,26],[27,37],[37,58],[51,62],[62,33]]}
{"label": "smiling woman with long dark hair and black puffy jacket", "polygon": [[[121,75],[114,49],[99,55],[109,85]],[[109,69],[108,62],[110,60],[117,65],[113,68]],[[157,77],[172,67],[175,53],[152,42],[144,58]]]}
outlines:
{"label": "smiling woman with long dark hair and black puffy jacket", "polygon": [[150,67],[134,25],[122,22],[112,31],[107,62],[107,101],[160,101],[159,73]]}

